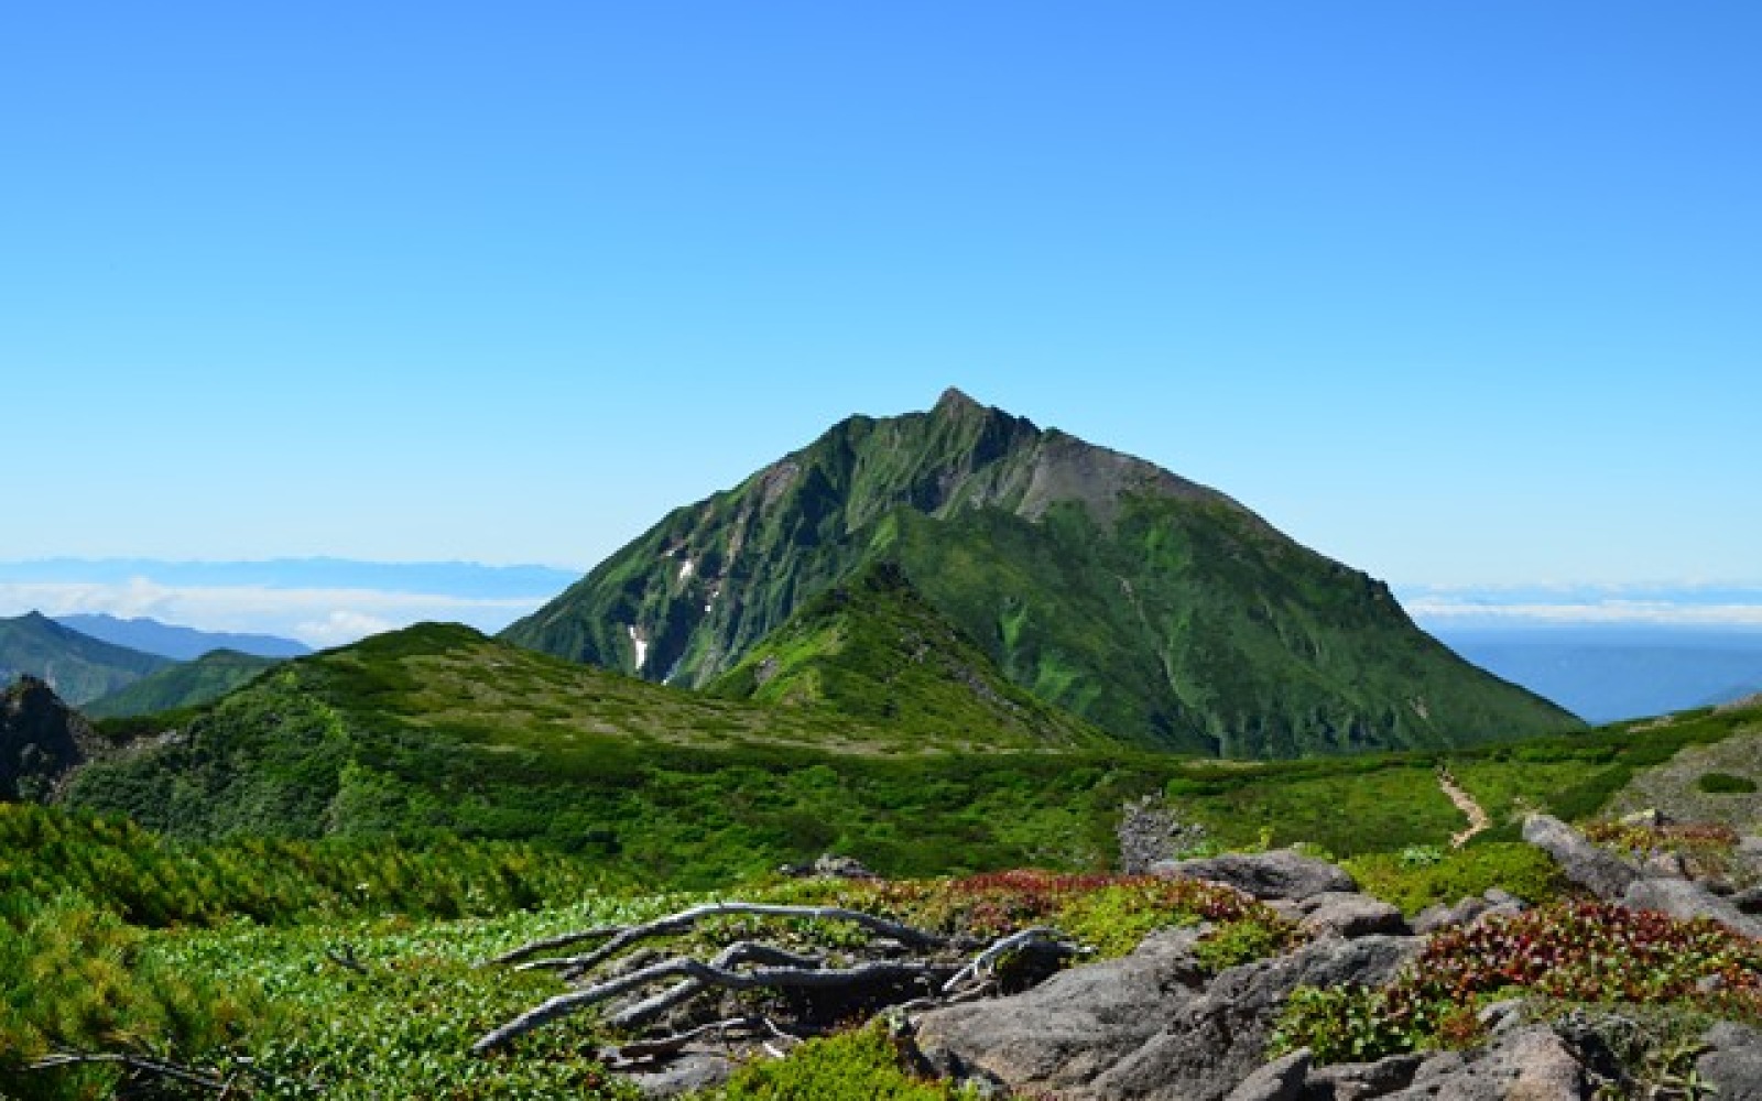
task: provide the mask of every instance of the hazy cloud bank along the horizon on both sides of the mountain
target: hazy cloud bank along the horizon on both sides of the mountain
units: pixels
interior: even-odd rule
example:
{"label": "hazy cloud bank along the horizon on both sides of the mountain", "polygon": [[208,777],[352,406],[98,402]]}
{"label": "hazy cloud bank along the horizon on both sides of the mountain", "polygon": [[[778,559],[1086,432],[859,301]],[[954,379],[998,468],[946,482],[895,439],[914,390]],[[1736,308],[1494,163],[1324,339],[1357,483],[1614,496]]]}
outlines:
{"label": "hazy cloud bank along the horizon on both sides of the mountain", "polygon": [[[241,631],[340,647],[423,620],[500,631],[581,571],[476,562],[0,562],[0,615],[109,613],[199,631]],[[1758,585],[1397,587],[1431,631],[1545,627],[1762,631]]]}

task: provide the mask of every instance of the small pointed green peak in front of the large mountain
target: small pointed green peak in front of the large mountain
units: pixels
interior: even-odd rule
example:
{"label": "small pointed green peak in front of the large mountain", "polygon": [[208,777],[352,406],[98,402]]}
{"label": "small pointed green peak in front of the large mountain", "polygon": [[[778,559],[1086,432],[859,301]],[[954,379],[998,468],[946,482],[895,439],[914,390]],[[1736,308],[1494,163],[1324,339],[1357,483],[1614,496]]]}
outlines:
{"label": "small pointed green peak in front of the large mountain", "polygon": [[789,706],[828,706],[939,738],[1010,731],[1011,740],[1101,747],[1107,735],[1010,684],[892,564],[809,601],[710,691]]}

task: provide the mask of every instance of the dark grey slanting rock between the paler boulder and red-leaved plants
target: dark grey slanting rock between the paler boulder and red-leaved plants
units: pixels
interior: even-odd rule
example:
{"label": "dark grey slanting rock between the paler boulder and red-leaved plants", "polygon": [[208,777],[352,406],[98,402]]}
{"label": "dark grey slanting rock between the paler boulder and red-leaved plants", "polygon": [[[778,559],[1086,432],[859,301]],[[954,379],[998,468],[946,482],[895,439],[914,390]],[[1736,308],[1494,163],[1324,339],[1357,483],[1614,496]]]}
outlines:
{"label": "dark grey slanting rock between the paler boulder and red-leaved plants", "polygon": [[1092,1094],[1105,1101],[1218,1101],[1265,1057],[1279,1006],[1297,986],[1387,983],[1418,953],[1418,937],[1316,941],[1272,960],[1232,967],[1177,1008],[1166,1027],[1115,1068]]}

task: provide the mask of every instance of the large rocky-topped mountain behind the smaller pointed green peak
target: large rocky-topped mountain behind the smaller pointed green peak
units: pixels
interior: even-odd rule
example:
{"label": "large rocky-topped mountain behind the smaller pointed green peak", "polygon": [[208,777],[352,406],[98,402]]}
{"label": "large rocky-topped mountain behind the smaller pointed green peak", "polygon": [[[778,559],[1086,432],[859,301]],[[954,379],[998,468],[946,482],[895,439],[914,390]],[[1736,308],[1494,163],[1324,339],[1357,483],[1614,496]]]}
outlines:
{"label": "large rocky-topped mountain behind the smaller pointed green peak", "polygon": [[504,636],[685,687],[737,673],[726,689],[879,564],[1015,685],[1131,745],[1288,757],[1581,726],[1223,493],[959,391],[675,509]]}

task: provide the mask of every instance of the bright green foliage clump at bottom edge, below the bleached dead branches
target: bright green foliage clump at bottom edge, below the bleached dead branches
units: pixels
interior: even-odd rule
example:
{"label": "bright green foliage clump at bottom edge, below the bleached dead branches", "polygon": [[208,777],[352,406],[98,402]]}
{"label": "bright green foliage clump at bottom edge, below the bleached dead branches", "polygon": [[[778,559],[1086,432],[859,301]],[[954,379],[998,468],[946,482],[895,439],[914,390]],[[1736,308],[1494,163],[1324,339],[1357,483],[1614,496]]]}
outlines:
{"label": "bright green foliage clump at bottom edge, below the bleached dead branches", "polygon": [[717,1101],[957,1101],[974,1097],[906,1068],[883,1025],[811,1039],[777,1062],[740,1068]]}

